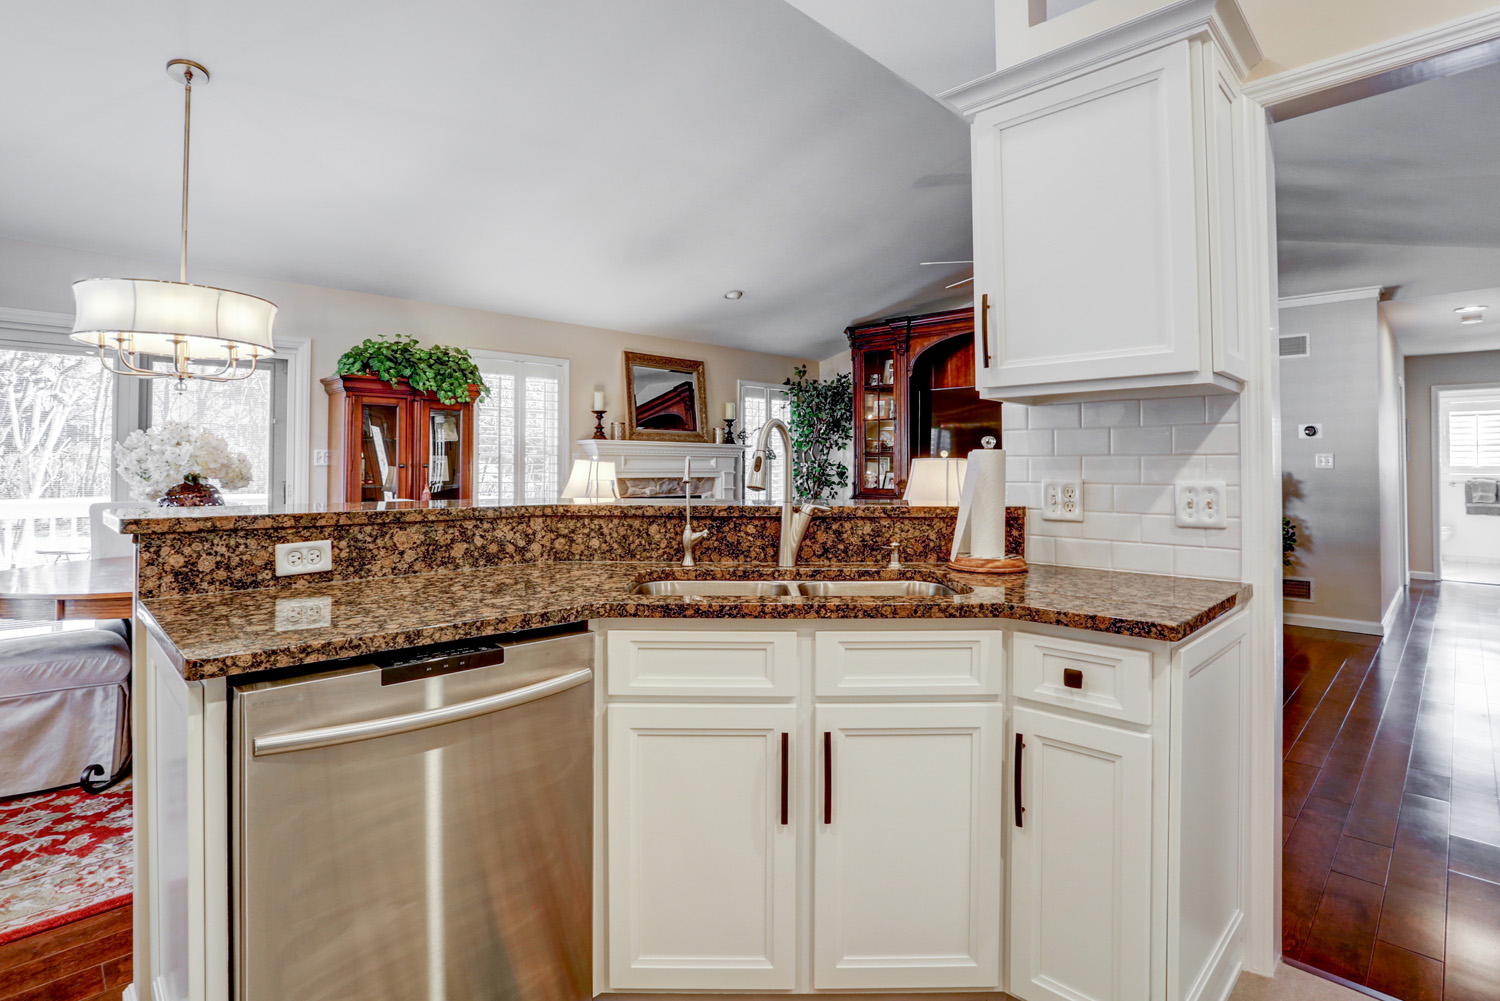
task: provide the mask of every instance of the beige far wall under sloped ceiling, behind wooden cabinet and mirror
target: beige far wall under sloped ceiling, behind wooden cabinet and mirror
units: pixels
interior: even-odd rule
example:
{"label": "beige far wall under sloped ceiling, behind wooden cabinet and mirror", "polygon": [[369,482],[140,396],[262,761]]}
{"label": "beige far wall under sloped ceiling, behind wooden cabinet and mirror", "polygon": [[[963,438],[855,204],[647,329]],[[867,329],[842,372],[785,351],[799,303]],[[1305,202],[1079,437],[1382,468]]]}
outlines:
{"label": "beige far wall under sloped ceiling, behind wooden cabinet and mirror", "polygon": [[[164,272],[164,267],[174,270],[170,267],[171,264],[171,260],[142,263],[86,251],[0,240],[0,306],[72,315],[72,282],[99,276],[176,278],[176,273]],[[276,317],[276,333],[306,338],[312,342],[312,449],[327,447],[328,438],[328,398],[318,378],[333,374],[334,363],[345,350],[376,333],[411,333],[423,344],[567,359],[570,363],[568,434],[574,440],[592,434],[594,417],[590,407],[596,389],[604,392],[609,408],[604,419],[624,420],[621,351],[702,359],[708,374],[708,411],[714,417],[714,423],[723,414],[723,405],[735,399],[738,380],[780,383],[792,374],[792,368],[800,362],[800,359],[759,351],[650,338],[598,327],[579,327],[549,320],[440,306],[316,285],[212,272],[194,273],[192,279],[270,299],[280,308]],[[312,500],[322,500],[326,492],[326,471],[322,468],[312,470]]]}

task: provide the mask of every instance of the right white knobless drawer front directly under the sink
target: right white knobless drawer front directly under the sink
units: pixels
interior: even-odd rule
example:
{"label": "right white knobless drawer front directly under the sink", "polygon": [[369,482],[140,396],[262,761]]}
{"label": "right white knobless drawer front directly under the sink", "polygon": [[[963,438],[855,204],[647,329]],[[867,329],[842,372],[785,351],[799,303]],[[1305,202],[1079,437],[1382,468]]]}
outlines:
{"label": "right white knobless drawer front directly under the sink", "polygon": [[820,632],[818,695],[999,695],[998,632]]}

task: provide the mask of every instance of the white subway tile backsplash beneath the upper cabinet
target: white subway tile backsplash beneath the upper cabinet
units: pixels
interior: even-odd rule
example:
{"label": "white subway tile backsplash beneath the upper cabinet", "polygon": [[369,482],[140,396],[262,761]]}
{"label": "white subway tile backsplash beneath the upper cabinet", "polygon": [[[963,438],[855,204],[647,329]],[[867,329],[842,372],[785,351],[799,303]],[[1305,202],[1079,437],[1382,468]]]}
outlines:
{"label": "white subway tile backsplash beneath the upper cabinet", "polygon": [[[1026,555],[1140,573],[1239,579],[1238,396],[1005,404],[1006,503],[1028,507]],[[1222,530],[1179,528],[1174,483],[1224,480]],[[1042,521],[1042,480],[1083,482],[1083,521]]]}

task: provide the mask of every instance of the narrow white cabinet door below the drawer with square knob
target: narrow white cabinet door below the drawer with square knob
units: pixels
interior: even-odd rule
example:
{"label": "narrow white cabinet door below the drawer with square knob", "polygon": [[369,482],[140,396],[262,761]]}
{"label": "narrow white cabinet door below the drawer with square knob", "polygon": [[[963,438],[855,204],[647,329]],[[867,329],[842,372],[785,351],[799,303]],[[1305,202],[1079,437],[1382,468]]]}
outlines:
{"label": "narrow white cabinet door below the drawer with square knob", "polygon": [[1010,992],[1146,1001],[1150,737],[1026,708],[1014,726],[1024,812],[1011,828]]}

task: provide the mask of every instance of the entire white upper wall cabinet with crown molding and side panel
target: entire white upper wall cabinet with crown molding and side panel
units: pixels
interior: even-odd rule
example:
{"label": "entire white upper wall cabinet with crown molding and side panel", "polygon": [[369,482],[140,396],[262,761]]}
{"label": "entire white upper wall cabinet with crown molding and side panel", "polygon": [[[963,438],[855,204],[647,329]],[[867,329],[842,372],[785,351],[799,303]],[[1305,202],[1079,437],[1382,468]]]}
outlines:
{"label": "entire white upper wall cabinet with crown molding and side panel", "polygon": [[974,123],[981,395],[1239,389],[1246,110],[1216,38],[1096,45],[948,95]]}

